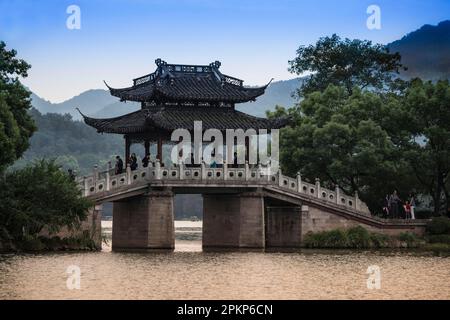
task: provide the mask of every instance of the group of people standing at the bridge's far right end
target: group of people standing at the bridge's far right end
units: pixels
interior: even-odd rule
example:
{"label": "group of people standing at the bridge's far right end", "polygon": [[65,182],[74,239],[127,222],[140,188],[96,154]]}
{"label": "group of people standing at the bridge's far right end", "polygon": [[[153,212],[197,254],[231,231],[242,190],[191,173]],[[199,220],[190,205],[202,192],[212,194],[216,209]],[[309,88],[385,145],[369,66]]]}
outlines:
{"label": "group of people standing at the bridge's far right end", "polygon": [[414,196],[409,195],[408,200],[403,201],[398,196],[397,190],[387,194],[383,203],[383,217],[391,219],[415,219],[414,209],[416,206]]}

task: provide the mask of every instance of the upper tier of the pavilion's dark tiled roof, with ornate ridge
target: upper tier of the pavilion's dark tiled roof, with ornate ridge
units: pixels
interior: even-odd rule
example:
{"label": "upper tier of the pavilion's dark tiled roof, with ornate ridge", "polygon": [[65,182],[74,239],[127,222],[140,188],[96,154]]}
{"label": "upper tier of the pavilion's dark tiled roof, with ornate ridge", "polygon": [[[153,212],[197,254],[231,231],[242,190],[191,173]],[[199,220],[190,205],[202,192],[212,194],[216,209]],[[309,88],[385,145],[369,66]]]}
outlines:
{"label": "upper tier of the pavilion's dark tiled roof, with ornate ridge", "polygon": [[242,80],[222,74],[219,61],[209,65],[155,62],[156,71],[134,79],[131,87],[107,85],[111,94],[122,101],[240,103],[254,101],[269,85],[245,87]]}

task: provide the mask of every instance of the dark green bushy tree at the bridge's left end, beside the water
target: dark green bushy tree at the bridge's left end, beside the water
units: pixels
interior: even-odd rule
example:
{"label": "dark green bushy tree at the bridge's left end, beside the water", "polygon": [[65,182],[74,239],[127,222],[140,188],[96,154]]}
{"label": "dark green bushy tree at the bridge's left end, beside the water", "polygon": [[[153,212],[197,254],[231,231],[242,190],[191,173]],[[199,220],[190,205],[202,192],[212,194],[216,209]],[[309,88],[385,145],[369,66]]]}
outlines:
{"label": "dark green bushy tree at the bridge's left end, beside the water", "polygon": [[8,172],[0,180],[0,199],[0,226],[15,240],[44,227],[50,232],[77,227],[93,205],[53,160]]}

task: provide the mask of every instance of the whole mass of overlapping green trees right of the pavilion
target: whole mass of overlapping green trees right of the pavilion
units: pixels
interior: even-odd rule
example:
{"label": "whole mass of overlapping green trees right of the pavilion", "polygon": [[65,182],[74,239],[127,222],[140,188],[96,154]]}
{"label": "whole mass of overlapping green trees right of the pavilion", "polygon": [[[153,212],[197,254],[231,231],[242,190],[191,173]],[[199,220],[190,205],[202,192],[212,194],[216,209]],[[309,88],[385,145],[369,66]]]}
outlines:
{"label": "whole mass of overlapping green trees right of the pavilion", "polygon": [[435,214],[446,213],[448,81],[396,81],[400,56],[368,41],[333,35],[297,53],[291,71],[314,72],[300,88],[304,99],[269,112],[292,119],[281,131],[282,170],[357,191],[373,213],[394,189],[403,200],[410,193],[429,195]]}

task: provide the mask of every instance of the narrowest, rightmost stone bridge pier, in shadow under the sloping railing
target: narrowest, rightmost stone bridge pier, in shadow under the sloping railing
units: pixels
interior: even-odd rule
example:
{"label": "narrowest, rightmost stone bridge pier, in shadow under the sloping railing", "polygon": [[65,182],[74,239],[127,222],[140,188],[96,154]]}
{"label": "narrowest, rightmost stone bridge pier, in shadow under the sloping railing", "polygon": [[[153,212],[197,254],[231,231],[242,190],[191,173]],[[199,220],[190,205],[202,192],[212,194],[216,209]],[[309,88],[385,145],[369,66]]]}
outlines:
{"label": "narrowest, rightmost stone bridge pier, in shadow under the sloping railing", "polygon": [[267,207],[266,247],[300,247],[301,238],[300,207]]}

